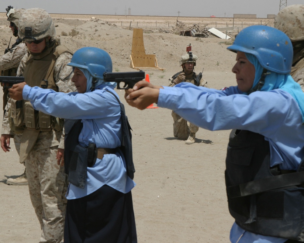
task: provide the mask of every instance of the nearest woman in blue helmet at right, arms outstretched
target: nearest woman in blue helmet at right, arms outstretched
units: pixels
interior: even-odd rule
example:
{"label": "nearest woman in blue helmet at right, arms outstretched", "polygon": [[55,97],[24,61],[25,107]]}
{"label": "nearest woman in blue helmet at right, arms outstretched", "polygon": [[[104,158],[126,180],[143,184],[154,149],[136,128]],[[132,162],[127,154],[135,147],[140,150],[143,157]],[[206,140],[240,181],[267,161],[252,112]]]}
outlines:
{"label": "nearest woman in blue helmet at right, arms outstretched", "polygon": [[205,129],[232,129],[225,171],[231,242],[304,241],[304,94],[289,75],[292,43],[275,28],[250,26],[227,49],[236,53],[237,86],[140,81],[126,101],[139,109],[155,102]]}

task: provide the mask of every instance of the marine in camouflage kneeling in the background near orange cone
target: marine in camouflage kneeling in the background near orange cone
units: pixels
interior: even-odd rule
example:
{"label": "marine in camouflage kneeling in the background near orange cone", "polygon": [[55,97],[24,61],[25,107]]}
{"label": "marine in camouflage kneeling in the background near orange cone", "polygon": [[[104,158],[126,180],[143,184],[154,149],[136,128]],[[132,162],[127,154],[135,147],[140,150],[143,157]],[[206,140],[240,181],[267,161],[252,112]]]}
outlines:
{"label": "marine in camouflage kneeling in the background near orange cone", "polygon": [[[180,66],[183,68],[182,71],[174,74],[169,79],[169,85],[173,87],[175,84],[181,82],[188,82],[195,84],[196,86],[206,86],[207,82],[202,78],[201,74],[196,75],[194,67],[196,65],[197,56],[188,52],[181,56],[179,60]],[[186,144],[195,143],[195,133],[199,130],[199,127],[181,118],[174,111],[171,113],[173,117],[173,135],[174,137],[182,140],[186,140]]]}

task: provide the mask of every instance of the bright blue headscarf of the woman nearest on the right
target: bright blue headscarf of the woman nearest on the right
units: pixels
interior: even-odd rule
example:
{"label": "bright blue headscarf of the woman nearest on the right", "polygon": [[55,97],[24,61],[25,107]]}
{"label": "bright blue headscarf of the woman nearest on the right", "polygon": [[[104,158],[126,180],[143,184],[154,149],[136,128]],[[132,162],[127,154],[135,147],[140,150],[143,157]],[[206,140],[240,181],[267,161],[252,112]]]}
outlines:
{"label": "bright blue headscarf of the woman nearest on the right", "polygon": [[[254,55],[250,53],[245,53],[245,55],[250,63],[252,63],[255,67],[255,77],[252,85],[252,87],[255,87],[261,79],[264,68]],[[301,86],[293,80],[290,74],[278,74],[269,70],[268,73],[269,74],[266,75],[265,83],[262,86],[261,91],[282,89],[291,94],[295,101],[299,104],[299,108],[302,113],[302,121],[304,122],[304,94]]]}

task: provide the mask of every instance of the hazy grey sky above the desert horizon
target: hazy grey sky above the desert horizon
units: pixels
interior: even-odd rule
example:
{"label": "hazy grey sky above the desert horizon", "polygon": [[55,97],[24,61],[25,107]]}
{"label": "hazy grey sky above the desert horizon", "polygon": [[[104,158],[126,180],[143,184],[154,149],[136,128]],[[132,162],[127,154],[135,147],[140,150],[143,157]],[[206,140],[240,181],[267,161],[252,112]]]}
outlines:
{"label": "hazy grey sky above the desert horizon", "polygon": [[[287,5],[292,4],[304,4],[304,0],[287,0]],[[233,17],[242,13],[267,18],[267,14],[279,12],[280,0],[1,0],[0,12],[5,12],[8,5],[38,7],[49,13],[125,15],[130,8],[131,15]]]}

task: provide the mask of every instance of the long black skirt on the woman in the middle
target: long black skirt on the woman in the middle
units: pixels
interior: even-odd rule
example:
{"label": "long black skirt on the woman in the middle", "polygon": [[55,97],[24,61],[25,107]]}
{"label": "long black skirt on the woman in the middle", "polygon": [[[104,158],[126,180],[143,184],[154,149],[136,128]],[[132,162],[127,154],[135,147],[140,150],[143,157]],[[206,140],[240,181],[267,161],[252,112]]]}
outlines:
{"label": "long black skirt on the woman in the middle", "polygon": [[64,243],[137,243],[131,192],[105,185],[68,200]]}

